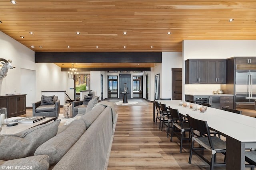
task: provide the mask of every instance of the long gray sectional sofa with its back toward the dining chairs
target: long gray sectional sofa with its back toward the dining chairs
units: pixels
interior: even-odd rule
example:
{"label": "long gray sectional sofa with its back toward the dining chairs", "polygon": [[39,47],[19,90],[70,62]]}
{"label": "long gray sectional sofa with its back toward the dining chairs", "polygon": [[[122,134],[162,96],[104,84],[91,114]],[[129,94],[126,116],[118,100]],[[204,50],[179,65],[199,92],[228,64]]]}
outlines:
{"label": "long gray sectional sofa with its back toward the dining chairs", "polygon": [[[40,125],[44,128],[51,126],[53,137],[50,136],[47,141],[42,141],[41,143],[38,139],[38,146],[33,146],[32,153],[26,156],[22,155],[19,158],[20,155],[18,155],[13,159],[8,158],[8,152],[12,150],[10,145],[9,150],[6,151],[6,158],[8,158],[6,160],[1,156],[2,151],[5,152],[5,148],[0,146],[1,166],[27,166],[33,170],[106,169],[114,137],[117,114],[112,103],[105,101],[97,103],[98,101],[96,101],[90,101],[86,112],[71,118],[74,121],[68,125],[58,127],[57,131],[56,124],[60,123],[59,120]],[[37,126],[37,131],[40,131],[40,126]],[[31,129],[29,131],[34,131],[33,128]],[[44,134],[43,131],[44,129],[41,131],[42,134]],[[49,130],[46,129],[46,131]],[[29,134],[27,133],[25,136]],[[55,136],[54,133],[56,134]],[[6,141],[8,140],[6,135],[1,135],[1,139],[3,139],[2,137],[5,137]],[[18,137],[26,138],[24,135],[23,137],[18,135]],[[20,143],[22,143],[22,140],[19,141],[19,145],[21,145]],[[15,147],[17,148],[18,145]]]}

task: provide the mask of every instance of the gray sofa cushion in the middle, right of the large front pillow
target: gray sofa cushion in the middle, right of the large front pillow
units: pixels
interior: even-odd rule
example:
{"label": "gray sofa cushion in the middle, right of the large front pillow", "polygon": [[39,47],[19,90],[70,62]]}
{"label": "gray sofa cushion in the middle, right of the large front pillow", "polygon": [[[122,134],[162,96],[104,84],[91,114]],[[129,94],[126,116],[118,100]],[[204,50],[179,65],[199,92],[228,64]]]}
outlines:
{"label": "gray sofa cushion in the middle, right of the large front pillow", "polygon": [[74,120],[64,131],[38,147],[34,155],[47,154],[50,166],[56,165],[85,131],[84,121]]}

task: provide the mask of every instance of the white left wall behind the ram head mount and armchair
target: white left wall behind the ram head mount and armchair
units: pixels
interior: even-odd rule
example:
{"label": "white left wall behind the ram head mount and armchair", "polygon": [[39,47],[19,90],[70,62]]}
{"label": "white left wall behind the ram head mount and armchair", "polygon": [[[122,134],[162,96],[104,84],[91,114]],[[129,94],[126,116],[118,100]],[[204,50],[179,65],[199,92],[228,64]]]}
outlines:
{"label": "white left wall behind the ram head mount and armchair", "polygon": [[[0,31],[0,57],[11,59],[16,68],[8,70],[8,75],[2,80],[0,94],[16,94],[26,92],[26,106],[32,107],[31,100],[40,100],[42,90],[62,90],[69,93],[69,83],[67,72],[60,72],[60,67],[53,63],[34,63],[34,51],[12,39]],[[22,75],[25,69],[36,72],[35,77],[31,77],[30,82],[21,81],[25,78]],[[36,90],[24,90],[26,84],[36,84]],[[74,80],[73,83],[74,84]],[[72,85],[74,86],[74,85]],[[74,91],[74,90],[73,90]],[[74,95],[74,92],[72,93]]]}

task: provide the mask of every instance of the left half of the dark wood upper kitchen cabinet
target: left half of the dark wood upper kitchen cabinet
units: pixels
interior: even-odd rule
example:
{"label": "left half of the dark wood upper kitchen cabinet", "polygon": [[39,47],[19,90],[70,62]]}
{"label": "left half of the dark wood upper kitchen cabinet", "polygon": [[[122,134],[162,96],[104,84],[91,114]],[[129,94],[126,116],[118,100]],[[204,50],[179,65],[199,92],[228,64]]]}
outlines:
{"label": "left half of the dark wood upper kitchen cabinet", "polygon": [[207,83],[207,60],[189,59],[185,61],[186,84]]}

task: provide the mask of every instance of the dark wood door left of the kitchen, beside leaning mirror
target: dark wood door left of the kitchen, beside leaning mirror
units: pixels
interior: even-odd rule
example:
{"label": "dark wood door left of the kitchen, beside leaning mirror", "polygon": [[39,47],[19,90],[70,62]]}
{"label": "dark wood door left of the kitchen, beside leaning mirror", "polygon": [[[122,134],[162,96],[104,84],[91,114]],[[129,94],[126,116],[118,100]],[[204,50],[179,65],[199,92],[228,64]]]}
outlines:
{"label": "dark wood door left of the kitchen, beside leaning mirror", "polygon": [[172,100],[182,100],[182,68],[172,68]]}

